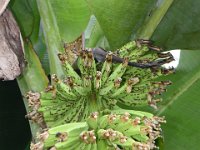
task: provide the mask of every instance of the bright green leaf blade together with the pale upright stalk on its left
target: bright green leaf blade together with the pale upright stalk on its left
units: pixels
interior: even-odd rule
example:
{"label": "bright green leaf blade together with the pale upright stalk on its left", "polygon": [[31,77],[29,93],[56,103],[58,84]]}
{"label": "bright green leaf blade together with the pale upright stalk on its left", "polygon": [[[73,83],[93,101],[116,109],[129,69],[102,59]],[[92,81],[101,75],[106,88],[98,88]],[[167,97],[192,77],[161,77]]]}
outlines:
{"label": "bright green leaf blade together with the pale upright stalk on its left", "polygon": [[50,72],[64,75],[58,53],[64,51],[64,42],[75,40],[85,30],[90,12],[83,0],[37,1],[44,37],[48,49]]}

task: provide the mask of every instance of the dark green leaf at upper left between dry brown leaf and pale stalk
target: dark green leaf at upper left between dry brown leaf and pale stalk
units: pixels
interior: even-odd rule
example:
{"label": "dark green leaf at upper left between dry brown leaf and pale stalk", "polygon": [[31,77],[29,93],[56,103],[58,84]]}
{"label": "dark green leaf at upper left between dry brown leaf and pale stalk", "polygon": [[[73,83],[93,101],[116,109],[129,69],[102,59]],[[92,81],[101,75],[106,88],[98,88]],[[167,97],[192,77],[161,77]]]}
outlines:
{"label": "dark green leaf at upper left between dry brown leaf and pale stalk", "polygon": [[12,0],[10,3],[12,13],[17,20],[23,38],[31,40],[40,61],[45,69],[46,74],[49,73],[48,55],[45,43],[41,38],[40,15],[35,0]]}

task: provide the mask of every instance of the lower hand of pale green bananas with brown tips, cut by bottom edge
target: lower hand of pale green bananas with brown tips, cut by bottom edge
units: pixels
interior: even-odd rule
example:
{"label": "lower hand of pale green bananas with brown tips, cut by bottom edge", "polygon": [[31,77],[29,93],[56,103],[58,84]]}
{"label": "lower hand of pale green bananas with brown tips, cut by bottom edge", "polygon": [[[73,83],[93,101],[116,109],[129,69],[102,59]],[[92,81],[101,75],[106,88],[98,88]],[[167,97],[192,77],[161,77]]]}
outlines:
{"label": "lower hand of pale green bananas with brown tips, cut by bottom edge", "polygon": [[44,130],[31,150],[150,150],[165,120],[150,113],[114,110],[91,113],[86,122]]}

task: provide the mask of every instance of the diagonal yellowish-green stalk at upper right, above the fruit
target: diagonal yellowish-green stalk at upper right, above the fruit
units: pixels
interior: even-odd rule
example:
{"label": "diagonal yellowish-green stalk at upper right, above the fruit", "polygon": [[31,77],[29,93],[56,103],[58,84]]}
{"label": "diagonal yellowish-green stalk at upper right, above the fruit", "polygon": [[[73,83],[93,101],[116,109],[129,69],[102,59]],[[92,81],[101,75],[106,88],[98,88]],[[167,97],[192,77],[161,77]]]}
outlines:
{"label": "diagonal yellowish-green stalk at upper right, above the fruit", "polygon": [[160,0],[157,3],[157,7],[155,8],[155,10],[151,13],[152,15],[147,19],[147,21],[136,33],[136,38],[150,39],[173,1],[174,0]]}

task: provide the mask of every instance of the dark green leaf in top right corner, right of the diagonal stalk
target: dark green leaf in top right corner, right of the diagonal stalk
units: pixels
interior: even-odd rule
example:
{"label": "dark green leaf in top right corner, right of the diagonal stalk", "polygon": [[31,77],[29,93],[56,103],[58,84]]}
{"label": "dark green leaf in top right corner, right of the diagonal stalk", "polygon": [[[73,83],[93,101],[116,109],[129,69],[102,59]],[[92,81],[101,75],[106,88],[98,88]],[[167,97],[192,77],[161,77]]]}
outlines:
{"label": "dark green leaf in top right corner, right of the diagonal stalk", "polygon": [[[153,31],[151,39],[155,44],[164,49],[200,49],[200,1],[199,0],[161,0],[162,4],[173,1],[162,21]],[[161,8],[157,8],[158,10]],[[163,10],[154,15],[162,14]],[[163,14],[164,15],[164,14]],[[152,22],[156,23],[155,17],[150,17],[151,23],[146,30],[152,30]],[[140,36],[141,37],[141,36]],[[145,36],[142,36],[145,38]]]}

